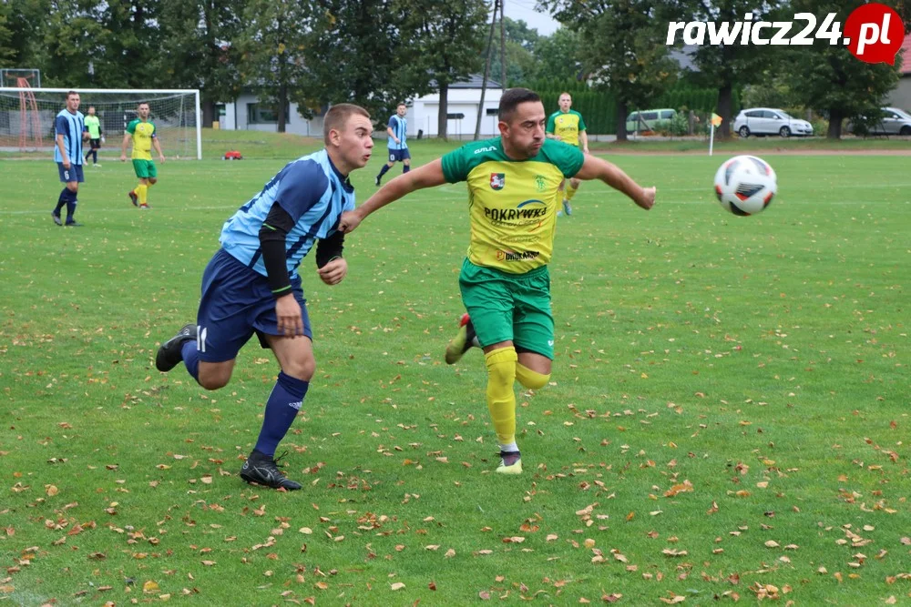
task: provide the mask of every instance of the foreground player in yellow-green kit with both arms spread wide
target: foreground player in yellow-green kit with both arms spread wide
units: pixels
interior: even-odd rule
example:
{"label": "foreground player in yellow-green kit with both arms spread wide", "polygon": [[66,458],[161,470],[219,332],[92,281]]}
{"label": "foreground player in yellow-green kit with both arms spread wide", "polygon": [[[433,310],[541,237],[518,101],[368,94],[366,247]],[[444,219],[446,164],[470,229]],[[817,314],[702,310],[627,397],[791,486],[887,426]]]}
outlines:
{"label": "foreground player in yellow-green kit with both arms spread wide", "polygon": [[459,275],[469,319],[446,348],[449,364],[472,346],[484,349],[487,408],[500,445],[497,472],[519,474],[516,380],[546,386],[554,358],[548,262],[553,251],[560,185],[568,177],[600,179],[642,208],[655,204],[655,188],[641,187],[601,158],[545,137],[541,98],[510,88],[500,98],[500,137],[460,147],[395,177],[360,207],[343,213],[350,232],[376,209],[417,189],[466,181],[471,238]]}

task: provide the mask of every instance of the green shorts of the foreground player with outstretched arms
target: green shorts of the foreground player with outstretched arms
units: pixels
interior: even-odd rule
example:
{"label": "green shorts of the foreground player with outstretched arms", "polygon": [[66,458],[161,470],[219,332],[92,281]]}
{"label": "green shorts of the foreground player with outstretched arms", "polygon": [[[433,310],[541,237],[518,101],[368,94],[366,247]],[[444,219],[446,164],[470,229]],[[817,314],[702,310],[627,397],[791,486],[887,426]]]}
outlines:
{"label": "green shorts of the foreground player with outstretched arms", "polygon": [[554,359],[554,317],[550,313],[547,266],[525,274],[509,274],[476,266],[466,259],[458,285],[482,347],[512,341],[519,350]]}

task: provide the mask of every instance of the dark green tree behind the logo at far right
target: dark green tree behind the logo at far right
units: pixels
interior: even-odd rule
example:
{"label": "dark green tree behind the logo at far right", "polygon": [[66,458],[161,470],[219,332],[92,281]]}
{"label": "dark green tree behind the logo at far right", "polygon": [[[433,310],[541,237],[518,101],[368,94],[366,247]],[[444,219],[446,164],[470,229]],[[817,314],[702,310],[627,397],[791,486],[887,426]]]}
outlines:
{"label": "dark green tree behind the logo at far right", "polygon": [[[844,19],[857,6],[859,0],[795,0],[795,12],[809,11],[815,15],[837,13],[836,20]],[[896,7],[896,3],[885,0]],[[885,96],[896,87],[901,61],[895,66],[867,64],[851,55],[847,46],[830,46],[827,41],[816,40],[813,46],[789,46],[788,73],[792,75],[792,88],[805,106],[812,107],[829,118],[826,137],[838,139],[842,135],[845,118],[863,121],[863,116],[879,116]]]}

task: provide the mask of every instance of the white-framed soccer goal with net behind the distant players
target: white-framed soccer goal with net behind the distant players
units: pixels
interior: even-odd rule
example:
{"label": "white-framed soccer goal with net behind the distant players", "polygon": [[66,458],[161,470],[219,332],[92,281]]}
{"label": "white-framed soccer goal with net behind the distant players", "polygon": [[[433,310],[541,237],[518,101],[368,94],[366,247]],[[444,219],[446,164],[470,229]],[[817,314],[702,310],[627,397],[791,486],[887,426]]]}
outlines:
{"label": "white-framed soccer goal with net behind the distant players", "polygon": [[[26,85],[22,81],[19,84]],[[55,118],[67,106],[69,90],[0,87],[0,151],[53,153]],[[198,90],[74,90],[79,94],[80,112],[88,116],[88,108],[95,107],[101,135],[105,137],[99,156],[120,156],[124,131],[137,117],[138,104],[146,102],[148,119],[155,124],[155,133],[165,156],[202,158]]]}

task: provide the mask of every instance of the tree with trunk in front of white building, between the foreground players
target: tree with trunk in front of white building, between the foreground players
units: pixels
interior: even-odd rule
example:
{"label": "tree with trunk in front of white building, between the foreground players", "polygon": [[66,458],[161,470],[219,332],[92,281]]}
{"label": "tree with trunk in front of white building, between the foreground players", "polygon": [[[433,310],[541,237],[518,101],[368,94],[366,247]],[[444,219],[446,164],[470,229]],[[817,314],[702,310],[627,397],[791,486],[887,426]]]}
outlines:
{"label": "tree with trunk in front of white building, between the foreground players", "polygon": [[[411,2],[405,30],[414,32],[416,63],[434,79],[440,94],[436,132],[446,138],[449,86],[480,69],[484,52],[485,0],[420,0]],[[429,82],[427,83],[429,85]],[[479,113],[484,112],[478,107]]]}

